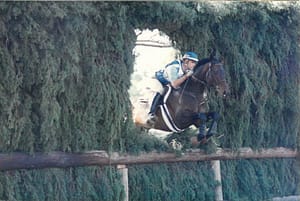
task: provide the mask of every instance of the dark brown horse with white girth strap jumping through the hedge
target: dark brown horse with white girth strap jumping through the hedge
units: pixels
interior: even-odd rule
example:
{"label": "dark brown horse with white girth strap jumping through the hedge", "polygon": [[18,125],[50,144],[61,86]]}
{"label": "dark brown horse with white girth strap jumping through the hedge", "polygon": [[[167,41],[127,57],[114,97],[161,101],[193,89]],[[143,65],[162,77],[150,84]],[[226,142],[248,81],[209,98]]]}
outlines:
{"label": "dark brown horse with white girth strap jumping through the hedge", "polygon": [[[191,125],[201,129],[201,125],[211,118],[213,122],[206,136],[207,138],[212,136],[212,131],[216,130],[218,114],[208,112],[207,90],[215,88],[219,96],[226,97],[229,88],[223,66],[223,62],[215,57],[198,61],[193,75],[178,89],[174,89],[170,85],[165,86],[164,100],[156,110],[155,123],[148,125],[144,122],[140,125],[144,128],[181,132]],[[136,121],[136,124],[139,122]],[[198,136],[197,140],[201,141],[202,139],[199,139]]]}

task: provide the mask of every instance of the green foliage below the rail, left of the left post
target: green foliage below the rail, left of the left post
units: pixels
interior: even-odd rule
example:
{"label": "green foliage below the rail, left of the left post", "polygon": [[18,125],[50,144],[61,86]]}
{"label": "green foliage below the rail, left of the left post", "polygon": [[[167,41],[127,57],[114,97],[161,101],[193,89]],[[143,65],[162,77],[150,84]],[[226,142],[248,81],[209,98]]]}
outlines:
{"label": "green foliage below the rail, left of the left post", "polygon": [[0,181],[0,198],[9,201],[122,201],[125,195],[114,168],[11,171]]}

